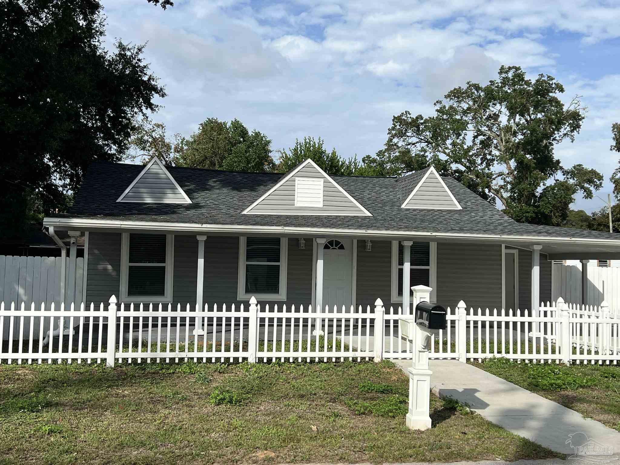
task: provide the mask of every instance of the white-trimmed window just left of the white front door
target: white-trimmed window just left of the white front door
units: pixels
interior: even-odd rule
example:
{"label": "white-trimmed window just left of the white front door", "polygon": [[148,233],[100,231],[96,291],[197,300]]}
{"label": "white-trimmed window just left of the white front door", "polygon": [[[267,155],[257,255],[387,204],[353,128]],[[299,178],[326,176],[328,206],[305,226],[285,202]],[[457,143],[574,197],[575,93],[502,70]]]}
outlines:
{"label": "white-trimmed window just left of the white front door", "polygon": [[286,300],[287,244],[286,237],[239,237],[239,300]]}

